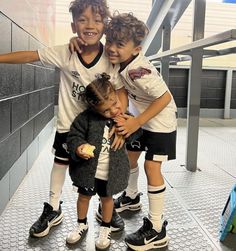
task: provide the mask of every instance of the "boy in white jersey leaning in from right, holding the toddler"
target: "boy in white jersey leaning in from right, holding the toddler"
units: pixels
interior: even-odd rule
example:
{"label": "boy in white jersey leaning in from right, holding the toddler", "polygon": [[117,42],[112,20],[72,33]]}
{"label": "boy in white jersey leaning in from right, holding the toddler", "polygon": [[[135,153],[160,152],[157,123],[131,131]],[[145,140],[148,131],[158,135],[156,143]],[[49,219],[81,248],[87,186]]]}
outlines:
{"label": "boy in white jersey leaning in from right, holding the toddler", "polygon": [[118,212],[140,209],[138,193],[138,159],[145,152],[144,168],[147,176],[149,217],[143,226],[125,238],[134,250],[149,250],[168,244],[167,222],[162,220],[164,192],[162,162],[176,158],[176,105],[156,68],[142,54],[141,42],[148,29],[132,14],[112,17],[106,29],[106,53],[111,63],[120,64],[119,73],[129,96],[129,110],[135,117],[120,115],[115,119],[118,131],[128,137],[137,129],[143,135],[127,145],[131,165],[128,187],[115,200]]}

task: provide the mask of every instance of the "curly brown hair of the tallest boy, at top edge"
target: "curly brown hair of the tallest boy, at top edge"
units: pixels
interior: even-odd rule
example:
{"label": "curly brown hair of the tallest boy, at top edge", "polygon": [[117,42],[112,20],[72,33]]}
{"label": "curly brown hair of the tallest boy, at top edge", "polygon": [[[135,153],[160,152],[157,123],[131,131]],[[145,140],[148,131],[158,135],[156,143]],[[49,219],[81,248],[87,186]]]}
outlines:
{"label": "curly brown hair of the tallest boy, at top edge", "polygon": [[93,13],[99,13],[103,19],[111,17],[106,0],[75,0],[70,3],[69,8],[73,20],[79,17],[89,6],[92,7]]}

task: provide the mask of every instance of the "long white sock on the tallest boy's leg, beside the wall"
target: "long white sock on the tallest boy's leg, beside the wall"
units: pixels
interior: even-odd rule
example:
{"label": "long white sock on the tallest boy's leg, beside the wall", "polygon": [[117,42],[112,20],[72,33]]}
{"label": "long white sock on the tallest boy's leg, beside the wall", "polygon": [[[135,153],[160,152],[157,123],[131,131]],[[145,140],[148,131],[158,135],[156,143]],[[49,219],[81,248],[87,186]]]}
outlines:
{"label": "long white sock on the tallest boy's leg, beside the wall", "polygon": [[66,178],[68,165],[54,163],[51,171],[49,204],[53,210],[59,209],[62,187]]}

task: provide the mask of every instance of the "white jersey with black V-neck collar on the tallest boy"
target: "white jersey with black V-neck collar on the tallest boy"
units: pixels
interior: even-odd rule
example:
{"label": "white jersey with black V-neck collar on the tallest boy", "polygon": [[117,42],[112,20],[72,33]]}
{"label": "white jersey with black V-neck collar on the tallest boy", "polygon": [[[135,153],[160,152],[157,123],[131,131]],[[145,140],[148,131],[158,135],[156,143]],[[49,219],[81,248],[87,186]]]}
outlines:
{"label": "white jersey with black V-neck collar on the tallest boy", "polygon": [[99,54],[90,64],[86,64],[77,52],[71,54],[68,44],[39,49],[38,54],[43,64],[60,69],[57,118],[59,133],[68,132],[75,117],[86,108],[81,93],[97,74],[106,72],[111,76],[110,81],[116,90],[123,87],[118,79],[118,66],[113,67],[108,61],[102,44]]}

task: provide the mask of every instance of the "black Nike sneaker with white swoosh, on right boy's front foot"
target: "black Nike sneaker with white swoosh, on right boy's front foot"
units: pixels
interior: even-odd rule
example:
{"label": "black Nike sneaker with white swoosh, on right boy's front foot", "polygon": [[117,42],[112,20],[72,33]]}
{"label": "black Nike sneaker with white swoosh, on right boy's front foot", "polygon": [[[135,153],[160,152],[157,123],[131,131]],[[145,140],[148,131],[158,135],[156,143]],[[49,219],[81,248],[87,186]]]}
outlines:
{"label": "black Nike sneaker with white swoosh, on right boy's front foot", "polygon": [[133,250],[143,251],[153,248],[162,248],[168,245],[169,237],[166,235],[167,221],[164,221],[162,230],[158,233],[153,229],[151,221],[143,218],[143,226],[133,234],[128,234],[125,238],[126,244]]}

